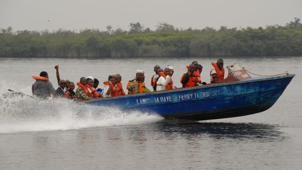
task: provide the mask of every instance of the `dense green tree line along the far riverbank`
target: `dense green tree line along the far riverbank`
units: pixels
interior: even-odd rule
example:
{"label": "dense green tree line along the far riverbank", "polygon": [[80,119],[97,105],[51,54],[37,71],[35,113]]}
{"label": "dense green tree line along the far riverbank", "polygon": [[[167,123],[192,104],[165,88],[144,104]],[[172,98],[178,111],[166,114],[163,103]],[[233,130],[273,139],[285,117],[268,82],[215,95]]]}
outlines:
{"label": "dense green tree line along the far riverbank", "polygon": [[0,30],[0,57],[225,57],[302,55],[302,24],[284,26],[178,29],[159,23],[156,30],[130,23],[129,31]]}

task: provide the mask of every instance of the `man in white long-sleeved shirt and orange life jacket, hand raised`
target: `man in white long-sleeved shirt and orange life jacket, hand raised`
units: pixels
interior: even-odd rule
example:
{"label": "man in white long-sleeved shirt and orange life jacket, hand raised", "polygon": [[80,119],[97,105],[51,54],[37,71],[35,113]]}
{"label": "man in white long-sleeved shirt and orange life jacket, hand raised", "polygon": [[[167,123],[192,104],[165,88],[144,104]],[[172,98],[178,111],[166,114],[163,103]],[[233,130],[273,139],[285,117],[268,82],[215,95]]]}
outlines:
{"label": "man in white long-sleeved shirt and orange life jacket, hand raised", "polygon": [[156,81],[156,91],[173,89],[173,81],[171,78],[173,72],[173,67],[172,69],[167,67],[165,68],[164,72],[159,73],[160,77]]}

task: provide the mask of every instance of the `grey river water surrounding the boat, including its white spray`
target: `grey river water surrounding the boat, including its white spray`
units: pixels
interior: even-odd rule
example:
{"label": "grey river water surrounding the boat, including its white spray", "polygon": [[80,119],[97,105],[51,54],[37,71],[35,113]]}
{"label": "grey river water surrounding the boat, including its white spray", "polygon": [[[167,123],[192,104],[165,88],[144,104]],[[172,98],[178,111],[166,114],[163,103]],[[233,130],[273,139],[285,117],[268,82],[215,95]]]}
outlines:
{"label": "grey river water surrounding the boat, including its white spray", "polygon": [[[302,56],[223,59],[225,66],[240,63],[255,74],[296,76],[262,113],[199,122],[0,96],[0,169],[301,169]],[[41,71],[57,88],[56,64],[61,79],[76,83],[92,76],[103,82],[119,73],[124,86],[143,69],[147,87],[154,65],[169,64],[174,85],[181,87],[185,66],[194,60],[203,65],[202,80],[209,82],[210,62],[217,58],[0,58],[0,94],[12,89],[31,95],[31,76]]]}

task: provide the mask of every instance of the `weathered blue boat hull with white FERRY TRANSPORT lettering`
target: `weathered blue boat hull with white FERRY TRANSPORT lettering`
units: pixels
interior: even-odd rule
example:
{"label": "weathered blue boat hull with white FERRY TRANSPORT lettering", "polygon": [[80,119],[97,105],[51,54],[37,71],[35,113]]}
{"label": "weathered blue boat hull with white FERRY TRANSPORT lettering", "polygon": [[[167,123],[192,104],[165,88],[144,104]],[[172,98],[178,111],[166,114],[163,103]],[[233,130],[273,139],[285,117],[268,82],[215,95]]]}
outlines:
{"label": "weathered blue boat hull with white FERRY TRANSPORT lettering", "polygon": [[192,120],[245,116],[269,109],[294,74],[85,101],[125,111]]}

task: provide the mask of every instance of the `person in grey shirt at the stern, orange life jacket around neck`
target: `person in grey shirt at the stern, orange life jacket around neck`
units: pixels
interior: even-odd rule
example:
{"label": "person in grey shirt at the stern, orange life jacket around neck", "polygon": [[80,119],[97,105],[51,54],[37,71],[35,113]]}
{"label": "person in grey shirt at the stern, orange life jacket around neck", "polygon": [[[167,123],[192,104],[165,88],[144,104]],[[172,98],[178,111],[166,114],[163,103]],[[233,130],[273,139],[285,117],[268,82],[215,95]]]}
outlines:
{"label": "person in grey shirt at the stern, orange life jacket around neck", "polygon": [[33,76],[36,82],[32,85],[31,90],[33,96],[37,96],[40,99],[48,99],[49,94],[54,94],[55,89],[53,88],[53,84],[48,79],[48,73],[46,71],[42,71],[39,76]]}

